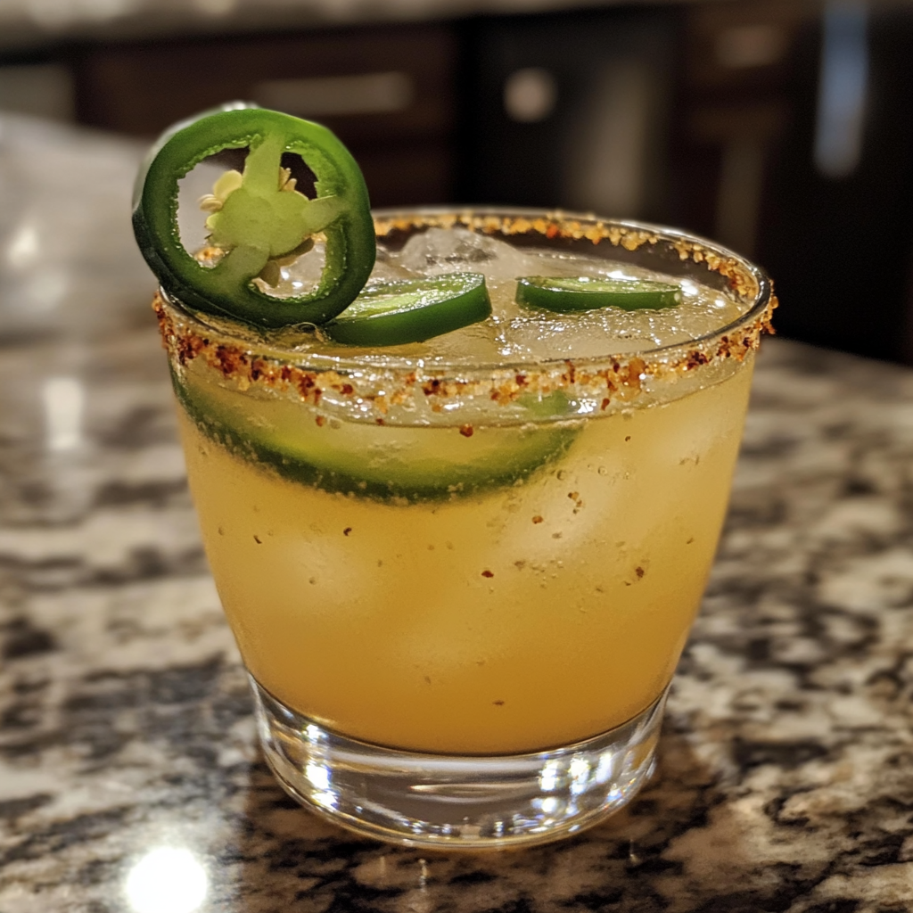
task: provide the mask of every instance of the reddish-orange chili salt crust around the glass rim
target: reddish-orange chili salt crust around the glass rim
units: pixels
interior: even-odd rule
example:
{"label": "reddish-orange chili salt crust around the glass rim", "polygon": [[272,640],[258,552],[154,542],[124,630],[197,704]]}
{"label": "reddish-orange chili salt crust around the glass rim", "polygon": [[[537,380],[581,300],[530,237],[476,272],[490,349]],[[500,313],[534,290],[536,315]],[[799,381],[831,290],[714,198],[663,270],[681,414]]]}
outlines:
{"label": "reddish-orange chili salt crust around the glass rim", "polygon": [[[755,351],[771,326],[778,306],[771,280],[760,268],[737,254],[675,229],[635,222],[618,222],[594,216],[542,213],[540,210],[484,210],[426,208],[415,212],[381,211],[374,214],[379,238],[395,232],[429,227],[462,226],[486,235],[561,237],[568,241],[608,242],[634,252],[640,247],[665,244],[680,261],[691,260],[724,278],[740,299],[753,304],[737,320],[686,342],[658,346],[624,355],[607,354],[586,359],[553,359],[539,362],[441,363],[432,366],[419,359],[386,357],[383,363],[365,358],[346,359],[317,352],[296,352],[268,341],[233,336],[191,314],[162,290],[152,301],[162,332],[163,345],[183,367],[196,358],[236,381],[241,389],[250,384],[277,391],[294,389],[301,399],[317,404],[326,391],[370,402],[385,415],[390,405],[404,404],[416,393],[431,400],[478,396],[508,404],[521,394],[547,395],[571,388],[577,394],[602,400],[603,410],[616,399],[627,399],[641,389],[647,377],[674,382],[712,362],[741,362]],[[380,393],[370,388],[382,378]],[[374,384],[369,383],[373,379]],[[435,411],[438,409],[432,404]]]}

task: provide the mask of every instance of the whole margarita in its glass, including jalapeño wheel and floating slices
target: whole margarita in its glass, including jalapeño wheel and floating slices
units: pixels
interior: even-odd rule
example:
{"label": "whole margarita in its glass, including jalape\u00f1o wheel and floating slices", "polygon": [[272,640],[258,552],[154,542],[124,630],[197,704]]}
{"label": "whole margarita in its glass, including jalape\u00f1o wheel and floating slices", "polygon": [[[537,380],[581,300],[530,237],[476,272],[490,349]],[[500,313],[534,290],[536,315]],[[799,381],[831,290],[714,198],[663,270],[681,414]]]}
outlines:
{"label": "whole margarita in its glass, including jalape\u00f1o wheel and floating slices", "polygon": [[373,216],[331,131],[245,102],[163,133],[132,222],[283,788],[467,848],[629,802],[726,509],[761,271],[594,216]]}

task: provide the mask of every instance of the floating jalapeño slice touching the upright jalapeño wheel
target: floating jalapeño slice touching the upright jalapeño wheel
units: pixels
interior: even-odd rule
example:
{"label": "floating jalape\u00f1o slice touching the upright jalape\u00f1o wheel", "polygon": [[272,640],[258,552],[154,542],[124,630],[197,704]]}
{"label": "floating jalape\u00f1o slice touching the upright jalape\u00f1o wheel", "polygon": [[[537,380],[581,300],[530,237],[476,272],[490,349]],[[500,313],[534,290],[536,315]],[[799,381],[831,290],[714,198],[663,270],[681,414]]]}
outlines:
{"label": "floating jalape\u00f1o slice touching the upright jalape\u00f1o wheel", "polygon": [[350,345],[404,345],[485,320],[491,301],[481,273],[369,285],[323,330]]}

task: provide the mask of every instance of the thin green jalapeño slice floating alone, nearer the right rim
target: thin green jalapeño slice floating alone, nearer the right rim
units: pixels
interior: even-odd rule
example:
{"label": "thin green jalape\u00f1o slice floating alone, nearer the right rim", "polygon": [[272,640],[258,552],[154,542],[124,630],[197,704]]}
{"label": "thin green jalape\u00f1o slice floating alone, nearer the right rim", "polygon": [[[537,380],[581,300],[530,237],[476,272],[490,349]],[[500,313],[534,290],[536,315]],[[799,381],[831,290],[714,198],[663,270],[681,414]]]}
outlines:
{"label": "thin green jalape\u00f1o slice floating alone, nearer the right rim", "polygon": [[681,304],[681,289],[650,279],[526,276],[517,281],[517,303],[544,310],[621,308],[659,310]]}

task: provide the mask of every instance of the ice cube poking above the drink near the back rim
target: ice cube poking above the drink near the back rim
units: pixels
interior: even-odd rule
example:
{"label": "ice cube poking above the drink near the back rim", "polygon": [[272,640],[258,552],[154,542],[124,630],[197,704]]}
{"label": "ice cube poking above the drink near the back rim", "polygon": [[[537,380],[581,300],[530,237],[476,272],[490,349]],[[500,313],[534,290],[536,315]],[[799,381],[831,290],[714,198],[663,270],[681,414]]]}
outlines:
{"label": "ice cube poking above the drink near the back rim", "polygon": [[422,276],[472,272],[488,279],[530,276],[539,262],[506,241],[467,228],[429,228],[409,238],[398,259],[401,266]]}

